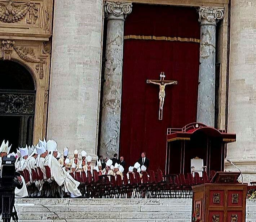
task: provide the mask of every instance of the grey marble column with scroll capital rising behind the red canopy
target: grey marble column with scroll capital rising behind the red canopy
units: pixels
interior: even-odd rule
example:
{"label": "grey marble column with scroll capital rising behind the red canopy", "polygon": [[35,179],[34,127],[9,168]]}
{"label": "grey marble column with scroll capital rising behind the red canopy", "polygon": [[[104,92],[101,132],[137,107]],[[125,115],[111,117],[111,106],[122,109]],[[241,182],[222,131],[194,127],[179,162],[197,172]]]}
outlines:
{"label": "grey marble column with scroll capital rising behind the red canopy", "polygon": [[215,44],[216,23],[224,16],[224,8],[200,6],[200,67],[197,122],[214,127],[215,117]]}

